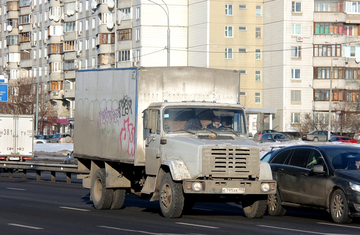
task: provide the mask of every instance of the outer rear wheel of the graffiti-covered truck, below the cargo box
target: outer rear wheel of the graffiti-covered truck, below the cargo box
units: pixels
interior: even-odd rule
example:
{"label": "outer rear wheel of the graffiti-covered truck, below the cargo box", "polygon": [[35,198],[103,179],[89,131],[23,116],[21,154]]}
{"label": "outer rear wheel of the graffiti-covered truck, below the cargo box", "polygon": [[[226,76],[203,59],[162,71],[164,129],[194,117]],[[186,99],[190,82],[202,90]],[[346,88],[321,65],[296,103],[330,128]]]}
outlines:
{"label": "outer rear wheel of the graffiti-covered truck, below the cargo box", "polygon": [[93,183],[91,184],[91,197],[96,209],[109,209],[113,200],[114,190],[106,188],[105,169],[95,171]]}

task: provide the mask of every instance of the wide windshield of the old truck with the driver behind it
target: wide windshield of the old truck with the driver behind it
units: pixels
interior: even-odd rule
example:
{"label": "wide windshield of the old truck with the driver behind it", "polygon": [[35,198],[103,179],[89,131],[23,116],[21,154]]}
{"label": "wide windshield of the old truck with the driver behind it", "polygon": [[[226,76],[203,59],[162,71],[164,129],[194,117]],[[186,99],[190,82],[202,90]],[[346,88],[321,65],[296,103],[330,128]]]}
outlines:
{"label": "wide windshield of the old truck with the driver behind it", "polygon": [[166,107],[163,124],[166,133],[236,133],[246,134],[243,109],[219,107]]}

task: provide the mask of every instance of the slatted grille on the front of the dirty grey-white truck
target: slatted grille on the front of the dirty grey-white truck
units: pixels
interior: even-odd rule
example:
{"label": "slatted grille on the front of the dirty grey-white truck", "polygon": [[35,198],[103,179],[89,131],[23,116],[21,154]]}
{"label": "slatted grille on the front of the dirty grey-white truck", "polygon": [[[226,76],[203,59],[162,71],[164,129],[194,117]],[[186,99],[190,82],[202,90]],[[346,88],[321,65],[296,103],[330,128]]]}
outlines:
{"label": "slatted grille on the front of the dirty grey-white truck", "polygon": [[213,178],[248,178],[258,175],[259,149],[241,147],[204,147],[202,169]]}

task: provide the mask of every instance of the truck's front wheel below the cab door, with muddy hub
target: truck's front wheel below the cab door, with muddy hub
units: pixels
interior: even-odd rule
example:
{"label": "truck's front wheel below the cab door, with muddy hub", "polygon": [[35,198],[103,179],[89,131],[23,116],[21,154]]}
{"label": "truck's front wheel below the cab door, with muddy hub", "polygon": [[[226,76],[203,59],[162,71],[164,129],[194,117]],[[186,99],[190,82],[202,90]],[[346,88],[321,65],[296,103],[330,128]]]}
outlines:
{"label": "truck's front wheel below the cab door, with muddy hub", "polygon": [[184,194],[181,183],[172,180],[170,173],[161,179],[159,201],[165,218],[179,218],[184,208]]}

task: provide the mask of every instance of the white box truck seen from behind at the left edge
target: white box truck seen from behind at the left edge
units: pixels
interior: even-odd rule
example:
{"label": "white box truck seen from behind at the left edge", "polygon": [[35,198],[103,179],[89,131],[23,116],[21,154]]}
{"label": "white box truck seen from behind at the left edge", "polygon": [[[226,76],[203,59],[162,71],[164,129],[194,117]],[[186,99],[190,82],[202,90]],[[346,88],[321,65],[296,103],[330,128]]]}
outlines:
{"label": "white box truck seen from behind at the left edge", "polygon": [[33,130],[33,115],[0,114],[0,160],[32,159]]}

